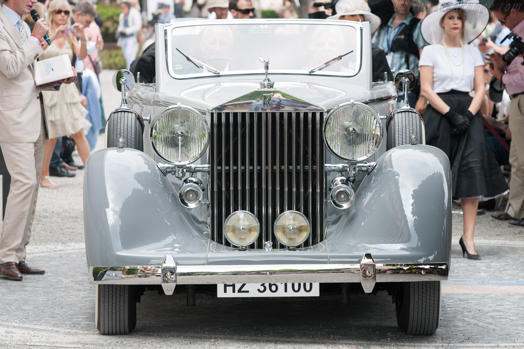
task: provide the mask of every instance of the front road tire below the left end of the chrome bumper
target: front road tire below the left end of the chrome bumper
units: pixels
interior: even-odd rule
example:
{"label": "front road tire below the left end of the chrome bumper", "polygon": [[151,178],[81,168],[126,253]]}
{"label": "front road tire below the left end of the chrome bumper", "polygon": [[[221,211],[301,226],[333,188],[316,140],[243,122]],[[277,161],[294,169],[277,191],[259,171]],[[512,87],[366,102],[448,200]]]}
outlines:
{"label": "front road tire below the left end of the chrome bumper", "polygon": [[99,285],[98,329],[101,334],[128,334],[136,326],[133,285]]}

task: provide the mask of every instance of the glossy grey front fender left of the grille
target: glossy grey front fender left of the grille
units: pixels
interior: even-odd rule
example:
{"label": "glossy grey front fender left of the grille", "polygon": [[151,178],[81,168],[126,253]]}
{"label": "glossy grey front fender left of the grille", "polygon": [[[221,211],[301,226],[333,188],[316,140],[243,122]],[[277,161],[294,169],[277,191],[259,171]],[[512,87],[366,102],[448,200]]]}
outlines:
{"label": "glossy grey front fender left of the grille", "polygon": [[[88,265],[154,265],[167,254],[205,264],[209,238],[147,154],[103,149],[84,174],[84,233]],[[183,251],[183,252],[182,252]]]}

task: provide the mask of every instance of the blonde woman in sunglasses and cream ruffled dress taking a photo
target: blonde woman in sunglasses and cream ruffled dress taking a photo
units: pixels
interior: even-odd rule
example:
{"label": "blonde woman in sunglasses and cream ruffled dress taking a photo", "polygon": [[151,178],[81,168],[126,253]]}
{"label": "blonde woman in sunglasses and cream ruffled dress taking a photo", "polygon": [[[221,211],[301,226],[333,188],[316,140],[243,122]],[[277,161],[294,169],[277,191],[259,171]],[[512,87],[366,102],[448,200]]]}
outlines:
{"label": "blonde woman in sunglasses and cream ruffled dress taking a photo", "polygon": [[[66,0],[53,0],[48,7],[49,36],[51,46],[47,46],[40,59],[57,57],[58,55],[68,54],[69,59],[73,58],[73,53],[79,59],[84,59],[87,55],[87,40],[84,35],[82,25],[75,23],[71,26],[70,6]],[[68,29],[69,28],[69,29]],[[71,33],[76,31],[80,43]],[[46,140],[46,147],[43,155],[42,174],[40,185],[46,188],[57,188],[49,179],[49,163],[53,153],[54,145],[58,137],[71,136],[77,144],[78,153],[82,162],[88,160],[90,154],[89,144],[84,133],[89,130],[91,123],[85,118],[88,111],[85,97],[81,96],[75,84],[63,85],[59,92],[48,93],[42,91],[46,101],[48,112],[48,132],[49,140]]]}

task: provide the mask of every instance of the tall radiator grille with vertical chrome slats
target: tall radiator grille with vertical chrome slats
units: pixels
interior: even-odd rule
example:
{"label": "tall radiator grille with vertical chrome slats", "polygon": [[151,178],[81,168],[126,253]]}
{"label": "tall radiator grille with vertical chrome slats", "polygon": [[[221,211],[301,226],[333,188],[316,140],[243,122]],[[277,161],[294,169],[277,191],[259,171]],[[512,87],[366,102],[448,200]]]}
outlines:
{"label": "tall radiator grille with vertical chrome slats", "polygon": [[[311,234],[301,247],[323,239],[323,112],[211,113],[211,238],[230,245],[225,219],[235,211],[252,212],[260,235],[250,248],[274,241],[280,213],[302,212]],[[283,247],[274,244],[274,247]]]}

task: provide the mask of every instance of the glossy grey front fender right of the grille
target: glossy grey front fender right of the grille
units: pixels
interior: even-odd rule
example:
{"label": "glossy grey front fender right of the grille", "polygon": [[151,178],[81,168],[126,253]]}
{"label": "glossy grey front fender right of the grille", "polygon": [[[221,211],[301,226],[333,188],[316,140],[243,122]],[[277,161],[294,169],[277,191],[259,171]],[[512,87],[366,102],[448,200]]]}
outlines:
{"label": "glossy grey front fender right of the grille", "polygon": [[330,263],[363,251],[381,263],[449,263],[451,171],[429,145],[403,145],[377,161],[355,202],[326,233]]}

